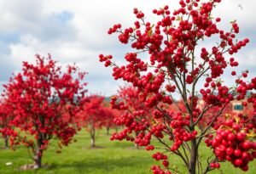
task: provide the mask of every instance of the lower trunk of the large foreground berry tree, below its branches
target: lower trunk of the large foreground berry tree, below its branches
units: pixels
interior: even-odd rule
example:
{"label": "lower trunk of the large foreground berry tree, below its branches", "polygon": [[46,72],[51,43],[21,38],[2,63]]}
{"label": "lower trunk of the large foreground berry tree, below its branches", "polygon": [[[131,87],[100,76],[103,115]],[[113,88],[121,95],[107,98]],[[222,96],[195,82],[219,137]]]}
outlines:
{"label": "lower trunk of the large foreground berry tree, below its branches", "polygon": [[196,164],[197,164],[197,156],[198,156],[198,149],[196,146],[196,140],[191,140],[191,154],[189,160],[189,174],[196,174]]}

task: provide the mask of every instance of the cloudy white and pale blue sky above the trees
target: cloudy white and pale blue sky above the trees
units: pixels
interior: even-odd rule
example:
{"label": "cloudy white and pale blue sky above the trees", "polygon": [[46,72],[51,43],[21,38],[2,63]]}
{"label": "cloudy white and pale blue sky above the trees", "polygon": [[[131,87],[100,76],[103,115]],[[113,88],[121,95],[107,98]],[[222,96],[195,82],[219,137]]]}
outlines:
{"label": "cloudy white and pale blue sky above the trees", "polygon": [[[224,0],[214,11],[228,29],[231,20],[240,25],[240,37],[250,38],[250,44],[236,57],[239,70],[256,75],[255,0]],[[113,81],[110,68],[98,61],[98,54],[113,54],[119,60],[128,52],[116,36],[107,31],[115,23],[130,26],[135,20],[132,9],[142,9],[147,20],[152,9],[168,4],[177,7],[178,0],[0,0],[0,82],[9,80],[12,72],[21,69],[21,62],[32,62],[34,55],[46,56],[61,65],[76,62],[89,73],[90,93],[112,95],[122,81]],[[209,42],[204,44],[209,45]],[[224,77],[228,81],[229,76]],[[1,89],[3,89],[1,87]]]}

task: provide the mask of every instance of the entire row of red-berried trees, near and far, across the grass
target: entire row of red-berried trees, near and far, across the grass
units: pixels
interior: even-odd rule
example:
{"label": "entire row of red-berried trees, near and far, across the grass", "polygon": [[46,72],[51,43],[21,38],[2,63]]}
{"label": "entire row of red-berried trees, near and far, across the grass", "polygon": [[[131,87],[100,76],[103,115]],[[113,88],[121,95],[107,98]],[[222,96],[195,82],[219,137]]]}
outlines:
{"label": "entire row of red-berried trees, near and far, across the grass", "polygon": [[[237,39],[236,21],[230,31],[218,27],[221,19],[212,16],[218,3],[221,0],[180,0],[180,8],[172,13],[168,6],[154,9],[160,17],[156,23],[134,8],[133,26],[122,30],[117,24],[109,29],[108,34],[118,33],[119,42],[131,43],[134,49],[125,54],[125,65],[115,64],[112,55],[99,55],[105,66],[113,67],[114,79],[131,84],[110,102],[119,109],[115,118],[102,97],[84,98],[85,73],[75,65],[62,73],[50,56],[37,56],[36,65],[24,62],[22,73],[4,86],[0,115],[9,116],[1,120],[8,123],[1,129],[3,137],[11,145],[24,143],[38,168],[51,138],[67,145],[80,127],[87,126],[95,146],[96,127],[109,127],[113,120],[124,128],[113,133],[112,140],[126,139],[147,150],[154,149],[153,138],[159,141],[162,150],[152,157],[162,166],[152,166],[155,174],[177,171],[169,165],[171,154],[180,157],[190,174],[218,169],[224,161],[247,171],[256,158],[256,77],[247,80],[247,70],[232,70],[239,65],[234,54],[249,39]],[[216,43],[201,45],[212,36],[218,38]],[[234,76],[234,86],[222,81],[224,72]],[[179,102],[174,99],[177,95]],[[253,109],[236,115],[229,109],[236,100]],[[212,151],[206,166],[201,165],[202,142]]]}

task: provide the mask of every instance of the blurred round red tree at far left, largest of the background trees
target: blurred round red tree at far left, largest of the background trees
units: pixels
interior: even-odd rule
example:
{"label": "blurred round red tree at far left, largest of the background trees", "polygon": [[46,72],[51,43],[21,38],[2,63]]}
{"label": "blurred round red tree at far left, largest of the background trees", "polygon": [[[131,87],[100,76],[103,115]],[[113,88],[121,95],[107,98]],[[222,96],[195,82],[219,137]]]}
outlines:
{"label": "blurred round red tree at far left, largest of the background trees", "polygon": [[24,143],[28,147],[34,168],[42,166],[50,139],[58,138],[60,144],[67,145],[76,133],[73,115],[83,103],[86,85],[81,83],[85,73],[78,70],[68,65],[63,72],[50,55],[37,55],[36,64],[23,62],[22,72],[4,86],[3,96],[14,114],[9,121],[16,131],[9,131],[11,144]]}

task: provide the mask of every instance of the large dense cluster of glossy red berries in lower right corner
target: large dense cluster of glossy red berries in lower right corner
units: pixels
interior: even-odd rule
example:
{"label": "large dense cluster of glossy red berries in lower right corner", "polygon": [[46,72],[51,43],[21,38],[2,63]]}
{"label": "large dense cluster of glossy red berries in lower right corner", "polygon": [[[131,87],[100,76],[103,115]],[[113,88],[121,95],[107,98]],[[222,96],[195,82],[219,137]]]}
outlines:
{"label": "large dense cluster of glossy red berries in lower right corner", "polygon": [[[218,160],[228,160],[234,166],[247,171],[248,163],[256,158],[256,143],[247,137],[249,133],[255,134],[255,130],[253,132],[236,121],[228,120],[224,122],[224,126],[219,127],[215,137],[211,134],[205,142],[212,147]],[[212,163],[211,166],[218,168],[216,164],[218,163]]]}

